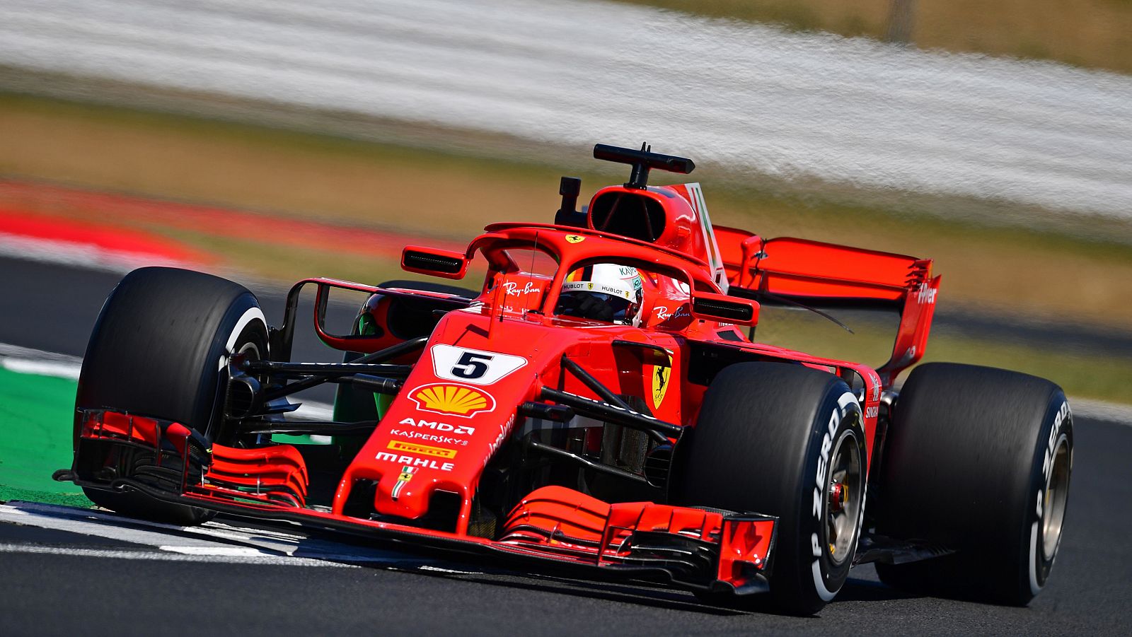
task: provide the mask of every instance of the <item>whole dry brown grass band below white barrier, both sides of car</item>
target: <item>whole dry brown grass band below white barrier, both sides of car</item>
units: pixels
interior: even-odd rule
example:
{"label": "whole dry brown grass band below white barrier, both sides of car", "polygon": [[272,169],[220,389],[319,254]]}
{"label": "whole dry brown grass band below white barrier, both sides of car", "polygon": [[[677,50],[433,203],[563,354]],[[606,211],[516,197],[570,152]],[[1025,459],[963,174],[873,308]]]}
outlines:
{"label": "whole dry brown grass band below white barrier, both sides of car", "polygon": [[[552,167],[2,95],[0,130],[0,175],[327,222],[469,239],[495,221],[549,221],[558,207],[561,173]],[[584,195],[593,186],[588,180]],[[719,224],[932,257],[944,275],[944,305],[1121,329],[1132,324],[1126,248],[706,187]],[[283,264],[267,247],[185,239],[261,276],[393,274],[387,259],[310,252],[289,253]]]}

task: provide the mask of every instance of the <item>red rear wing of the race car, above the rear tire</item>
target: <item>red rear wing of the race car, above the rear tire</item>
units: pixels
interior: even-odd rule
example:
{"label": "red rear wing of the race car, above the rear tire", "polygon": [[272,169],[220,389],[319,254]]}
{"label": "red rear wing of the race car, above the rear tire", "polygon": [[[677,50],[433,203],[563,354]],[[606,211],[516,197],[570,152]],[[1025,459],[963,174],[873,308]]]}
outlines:
{"label": "red rear wing of the race car, above the rear tire", "polygon": [[774,298],[814,308],[886,308],[900,313],[892,356],[877,368],[890,387],[924,356],[940,277],[932,260],[792,239],[763,239],[715,226],[728,294],[758,301]]}

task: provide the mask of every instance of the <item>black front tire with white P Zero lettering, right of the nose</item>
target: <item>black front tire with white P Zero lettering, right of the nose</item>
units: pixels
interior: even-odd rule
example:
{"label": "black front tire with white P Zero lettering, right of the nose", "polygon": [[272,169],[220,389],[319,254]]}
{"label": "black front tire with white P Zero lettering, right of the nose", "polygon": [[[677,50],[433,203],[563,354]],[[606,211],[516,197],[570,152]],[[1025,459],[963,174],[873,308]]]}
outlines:
{"label": "black front tire with white P Zero lettering, right of the nose", "polygon": [[[848,577],[865,507],[861,427],[840,378],[737,363],[712,381],[695,430],[677,446],[675,503],[779,516],[772,611],[813,614]],[[831,500],[834,476],[844,481],[843,502]]]}

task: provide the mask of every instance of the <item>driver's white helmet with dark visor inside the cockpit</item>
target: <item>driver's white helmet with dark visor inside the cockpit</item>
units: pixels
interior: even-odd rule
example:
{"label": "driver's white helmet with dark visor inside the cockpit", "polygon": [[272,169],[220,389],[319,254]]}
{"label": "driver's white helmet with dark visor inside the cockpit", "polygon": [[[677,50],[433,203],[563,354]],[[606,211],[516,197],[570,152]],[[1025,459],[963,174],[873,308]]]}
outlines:
{"label": "driver's white helmet with dark visor inside the cockpit", "polygon": [[638,325],[643,291],[641,275],[632,266],[594,264],[566,277],[558,296],[560,316],[620,325]]}

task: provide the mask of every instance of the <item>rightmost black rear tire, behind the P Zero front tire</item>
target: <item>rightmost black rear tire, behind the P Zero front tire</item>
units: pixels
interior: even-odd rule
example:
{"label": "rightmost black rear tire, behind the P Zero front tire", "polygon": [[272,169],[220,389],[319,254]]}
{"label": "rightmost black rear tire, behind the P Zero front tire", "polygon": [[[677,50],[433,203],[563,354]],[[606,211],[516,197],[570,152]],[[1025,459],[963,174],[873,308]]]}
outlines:
{"label": "rightmost black rear tire, behind the P Zero front tire", "polygon": [[876,565],[919,593],[1024,605],[1057,557],[1073,463],[1065,394],[1023,373],[929,363],[909,376],[877,483],[877,532],[957,553]]}

